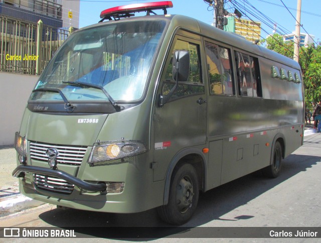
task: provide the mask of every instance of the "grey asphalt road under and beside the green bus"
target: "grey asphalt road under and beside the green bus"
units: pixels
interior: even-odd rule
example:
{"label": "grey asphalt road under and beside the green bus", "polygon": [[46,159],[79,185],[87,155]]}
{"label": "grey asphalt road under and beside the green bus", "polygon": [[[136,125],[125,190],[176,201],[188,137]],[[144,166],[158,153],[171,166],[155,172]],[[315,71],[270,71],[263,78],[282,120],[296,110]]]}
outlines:
{"label": "grey asphalt road under and beside the green bus", "polygon": [[[210,240],[206,233],[204,235],[197,230],[201,227],[321,227],[321,134],[306,136],[304,141],[302,147],[283,160],[278,178],[268,179],[255,172],[202,193],[195,215],[183,227],[168,228],[169,225],[158,219],[154,209],[134,214],[113,214],[62,210],[48,204],[2,217],[0,227],[81,227],[77,229],[78,234],[108,239],[110,229],[106,231],[106,227],[154,226],[157,227],[154,238],[163,242],[168,242],[166,238],[173,236],[192,237],[193,241],[205,237],[202,242]],[[150,228],[152,230],[155,228]],[[282,240],[293,242],[294,239]],[[305,241],[304,238],[295,240]],[[320,238],[306,240],[320,242]],[[176,241],[180,240],[176,238]]]}

